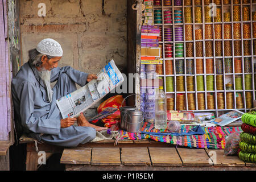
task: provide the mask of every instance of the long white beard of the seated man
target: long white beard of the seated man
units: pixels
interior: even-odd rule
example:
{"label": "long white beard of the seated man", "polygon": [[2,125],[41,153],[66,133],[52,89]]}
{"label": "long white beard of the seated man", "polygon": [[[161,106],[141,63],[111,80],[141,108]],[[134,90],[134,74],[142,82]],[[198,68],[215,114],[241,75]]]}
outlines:
{"label": "long white beard of the seated man", "polygon": [[51,71],[42,68],[42,70],[39,71],[39,76],[41,77],[44,85],[46,86],[48,101],[52,102],[53,91],[51,89]]}

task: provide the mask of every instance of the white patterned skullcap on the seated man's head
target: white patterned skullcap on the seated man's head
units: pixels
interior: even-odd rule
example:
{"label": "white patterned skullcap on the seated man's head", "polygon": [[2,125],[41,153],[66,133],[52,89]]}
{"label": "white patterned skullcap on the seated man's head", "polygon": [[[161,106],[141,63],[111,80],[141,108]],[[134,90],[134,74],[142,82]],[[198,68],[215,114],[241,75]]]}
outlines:
{"label": "white patterned skullcap on the seated man's head", "polygon": [[60,44],[53,39],[43,39],[41,42],[38,43],[36,46],[36,50],[40,53],[54,56],[54,57],[61,57],[63,55],[63,50]]}

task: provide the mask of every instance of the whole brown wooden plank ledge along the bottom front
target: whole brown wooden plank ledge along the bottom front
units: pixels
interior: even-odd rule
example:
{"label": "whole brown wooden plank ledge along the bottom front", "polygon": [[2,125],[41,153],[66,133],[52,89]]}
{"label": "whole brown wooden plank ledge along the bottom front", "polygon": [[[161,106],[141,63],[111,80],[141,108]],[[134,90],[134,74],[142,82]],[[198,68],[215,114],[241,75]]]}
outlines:
{"label": "whole brown wooden plank ledge along the bottom front", "polygon": [[151,144],[130,143],[127,146],[127,143],[119,143],[107,147],[88,143],[87,146],[64,148],[60,162],[65,164],[67,171],[256,169],[256,164],[245,163],[238,156],[224,156],[224,150],[175,148],[171,144],[158,147],[159,142]]}

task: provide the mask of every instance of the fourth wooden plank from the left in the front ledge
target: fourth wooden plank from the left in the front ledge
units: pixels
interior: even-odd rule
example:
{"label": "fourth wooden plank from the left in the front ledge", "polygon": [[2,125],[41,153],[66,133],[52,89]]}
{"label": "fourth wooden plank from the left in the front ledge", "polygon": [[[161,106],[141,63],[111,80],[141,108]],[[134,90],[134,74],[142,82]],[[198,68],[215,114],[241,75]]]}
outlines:
{"label": "fourth wooden plank from the left in the front ledge", "polygon": [[148,147],[152,166],[182,166],[174,147]]}

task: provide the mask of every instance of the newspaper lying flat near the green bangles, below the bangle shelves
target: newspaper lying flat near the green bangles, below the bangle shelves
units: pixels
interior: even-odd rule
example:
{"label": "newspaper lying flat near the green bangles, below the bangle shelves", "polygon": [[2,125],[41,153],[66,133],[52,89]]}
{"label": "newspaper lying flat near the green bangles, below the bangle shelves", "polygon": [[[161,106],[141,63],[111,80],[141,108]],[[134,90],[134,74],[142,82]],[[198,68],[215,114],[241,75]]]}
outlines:
{"label": "newspaper lying flat near the green bangles, below the bangle shelves", "polygon": [[232,123],[236,121],[237,119],[242,118],[242,115],[245,114],[239,110],[232,110],[226,114],[220,115],[220,117],[217,117],[213,120],[210,120],[210,123],[216,124],[218,126],[226,126],[229,123]]}

